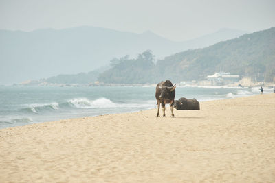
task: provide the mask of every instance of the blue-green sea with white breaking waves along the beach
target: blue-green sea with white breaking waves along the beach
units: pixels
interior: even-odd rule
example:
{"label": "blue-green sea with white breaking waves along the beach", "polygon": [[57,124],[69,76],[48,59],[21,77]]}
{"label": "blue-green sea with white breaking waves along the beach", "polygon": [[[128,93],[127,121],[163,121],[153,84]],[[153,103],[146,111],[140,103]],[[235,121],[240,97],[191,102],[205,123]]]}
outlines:
{"label": "blue-green sea with white breaking waves along the beach", "polygon": [[[272,89],[264,88],[264,93]],[[250,95],[259,95],[259,88],[178,86],[175,99]],[[0,86],[0,128],[152,108],[156,108],[153,86]]]}

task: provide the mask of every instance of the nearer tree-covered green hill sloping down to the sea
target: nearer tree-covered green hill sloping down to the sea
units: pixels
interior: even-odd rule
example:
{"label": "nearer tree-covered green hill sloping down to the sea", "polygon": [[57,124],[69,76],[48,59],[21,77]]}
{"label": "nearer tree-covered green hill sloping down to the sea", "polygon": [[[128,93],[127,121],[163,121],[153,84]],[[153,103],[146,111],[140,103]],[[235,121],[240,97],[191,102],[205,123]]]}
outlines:
{"label": "nearer tree-covered green hill sloping down to the sea", "polygon": [[152,63],[142,57],[122,59],[100,74],[99,81],[135,84],[170,79],[181,82],[206,80],[207,75],[224,71],[249,76],[257,82],[274,82],[275,28],[245,34],[204,49],[183,51],[158,60],[156,65]]}

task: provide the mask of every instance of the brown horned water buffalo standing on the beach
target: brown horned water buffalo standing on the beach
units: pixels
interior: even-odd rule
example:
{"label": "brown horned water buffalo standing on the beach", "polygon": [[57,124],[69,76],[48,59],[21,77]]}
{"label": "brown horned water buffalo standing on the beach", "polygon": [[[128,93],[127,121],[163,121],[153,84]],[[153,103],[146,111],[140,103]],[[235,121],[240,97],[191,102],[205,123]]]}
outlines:
{"label": "brown horned water buffalo standing on the beach", "polygon": [[165,117],[165,104],[170,103],[170,109],[172,112],[172,117],[175,117],[174,115],[174,99],[175,99],[175,88],[176,86],[170,82],[170,80],[166,80],[165,82],[160,82],[157,84],[157,87],[155,88],[155,98],[157,99],[157,117],[159,117],[159,106],[160,103],[162,103],[162,111],[163,111],[163,116]]}

